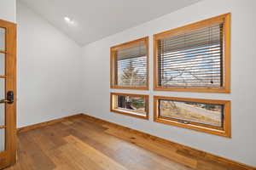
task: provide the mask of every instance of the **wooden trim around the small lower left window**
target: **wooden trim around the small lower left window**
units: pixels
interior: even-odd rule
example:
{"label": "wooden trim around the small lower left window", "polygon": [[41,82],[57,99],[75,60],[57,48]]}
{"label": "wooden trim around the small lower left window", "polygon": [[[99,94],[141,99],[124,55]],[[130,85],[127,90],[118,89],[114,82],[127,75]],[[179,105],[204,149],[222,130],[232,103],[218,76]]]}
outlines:
{"label": "wooden trim around the small lower left window", "polygon": [[[130,111],[121,111],[121,110],[114,109],[113,97],[116,96],[116,95],[124,95],[124,96],[144,98],[145,99],[146,116],[139,115],[136,112],[131,113]],[[137,117],[137,118],[148,120],[149,119],[149,115],[148,115],[148,108],[149,107],[148,107],[148,105],[149,105],[148,95],[143,95],[143,94],[121,94],[121,93],[111,93],[110,94],[110,112],[119,113],[119,114],[126,115],[126,116],[134,116],[134,117]]]}

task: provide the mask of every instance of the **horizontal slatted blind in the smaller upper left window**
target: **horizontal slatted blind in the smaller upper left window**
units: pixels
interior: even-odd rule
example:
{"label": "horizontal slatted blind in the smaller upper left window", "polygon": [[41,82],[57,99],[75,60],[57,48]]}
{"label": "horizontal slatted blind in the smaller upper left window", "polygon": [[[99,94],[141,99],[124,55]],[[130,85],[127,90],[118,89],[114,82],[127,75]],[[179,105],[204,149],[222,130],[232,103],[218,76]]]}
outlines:
{"label": "horizontal slatted blind in the smaller upper left window", "polygon": [[145,87],[147,84],[147,49],[144,43],[117,50],[117,85]]}

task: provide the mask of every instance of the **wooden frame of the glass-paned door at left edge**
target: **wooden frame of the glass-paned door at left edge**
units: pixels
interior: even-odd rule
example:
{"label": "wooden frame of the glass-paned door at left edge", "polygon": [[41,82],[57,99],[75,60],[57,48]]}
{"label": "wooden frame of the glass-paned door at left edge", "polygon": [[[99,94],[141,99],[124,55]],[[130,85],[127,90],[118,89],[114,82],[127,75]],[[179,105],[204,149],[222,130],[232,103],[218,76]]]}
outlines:
{"label": "wooden frame of the glass-paned door at left edge", "polygon": [[5,104],[5,150],[0,152],[0,169],[14,165],[17,156],[16,139],[16,24],[0,20],[5,28],[5,97],[8,91],[15,94],[14,103]]}

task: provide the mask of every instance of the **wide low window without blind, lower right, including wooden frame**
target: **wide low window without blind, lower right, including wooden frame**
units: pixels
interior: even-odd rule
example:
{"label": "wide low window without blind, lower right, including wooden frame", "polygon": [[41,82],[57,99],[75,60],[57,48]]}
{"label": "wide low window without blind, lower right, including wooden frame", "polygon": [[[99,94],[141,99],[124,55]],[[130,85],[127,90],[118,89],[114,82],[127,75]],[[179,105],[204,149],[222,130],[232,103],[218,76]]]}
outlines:
{"label": "wide low window without blind, lower right, including wooden frame", "polygon": [[154,96],[154,122],[230,138],[230,101]]}

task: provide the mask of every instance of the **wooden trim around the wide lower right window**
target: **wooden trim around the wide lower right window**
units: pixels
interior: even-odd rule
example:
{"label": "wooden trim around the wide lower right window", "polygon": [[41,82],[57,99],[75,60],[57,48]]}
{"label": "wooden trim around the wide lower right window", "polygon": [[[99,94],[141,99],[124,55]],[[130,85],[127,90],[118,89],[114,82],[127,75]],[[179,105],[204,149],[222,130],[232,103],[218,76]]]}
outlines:
{"label": "wooden trim around the wide lower right window", "polygon": [[[172,99],[176,101],[189,101],[189,102],[201,102],[210,104],[221,104],[224,105],[224,127],[222,128],[212,128],[212,126],[204,125],[201,123],[189,122],[189,124],[184,124],[178,122],[174,118],[166,118],[160,116],[159,113],[159,99]],[[154,122],[160,122],[176,127],[188,128],[203,133],[211,133],[218,136],[223,136],[226,138],[231,138],[231,122],[230,122],[230,101],[229,100],[215,100],[215,99],[189,99],[189,98],[177,98],[177,97],[164,97],[164,96],[154,96]]]}

